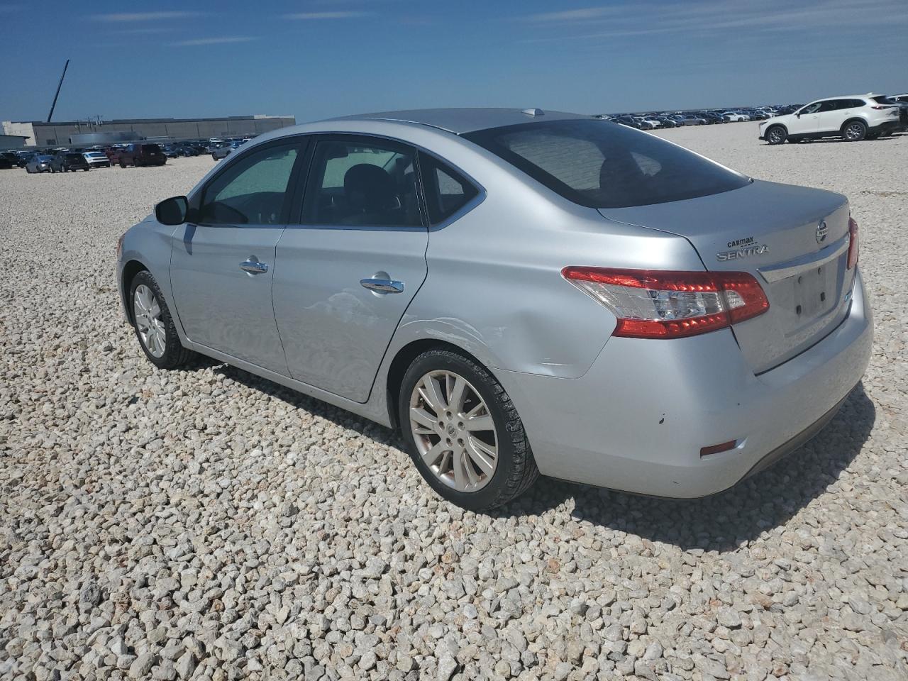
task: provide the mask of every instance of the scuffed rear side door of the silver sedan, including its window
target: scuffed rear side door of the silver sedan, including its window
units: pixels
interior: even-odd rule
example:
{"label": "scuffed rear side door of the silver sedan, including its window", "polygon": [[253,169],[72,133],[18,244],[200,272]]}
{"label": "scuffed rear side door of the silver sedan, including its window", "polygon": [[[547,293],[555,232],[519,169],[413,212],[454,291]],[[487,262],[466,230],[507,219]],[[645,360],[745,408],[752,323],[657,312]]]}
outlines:
{"label": "scuffed rear side door of the silver sedan, including its window", "polygon": [[368,400],[391,336],[426,278],[416,151],[321,136],[299,224],[277,247],[274,313],[294,379]]}

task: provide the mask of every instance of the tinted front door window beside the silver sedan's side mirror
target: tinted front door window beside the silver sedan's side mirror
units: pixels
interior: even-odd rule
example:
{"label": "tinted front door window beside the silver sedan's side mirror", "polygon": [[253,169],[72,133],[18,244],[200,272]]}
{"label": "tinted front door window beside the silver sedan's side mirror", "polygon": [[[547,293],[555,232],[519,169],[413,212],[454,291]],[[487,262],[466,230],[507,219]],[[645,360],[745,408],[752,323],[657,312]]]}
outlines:
{"label": "tinted front door window beside the silver sedan's side mirror", "polygon": [[295,145],[247,153],[215,177],[202,196],[199,222],[281,224]]}

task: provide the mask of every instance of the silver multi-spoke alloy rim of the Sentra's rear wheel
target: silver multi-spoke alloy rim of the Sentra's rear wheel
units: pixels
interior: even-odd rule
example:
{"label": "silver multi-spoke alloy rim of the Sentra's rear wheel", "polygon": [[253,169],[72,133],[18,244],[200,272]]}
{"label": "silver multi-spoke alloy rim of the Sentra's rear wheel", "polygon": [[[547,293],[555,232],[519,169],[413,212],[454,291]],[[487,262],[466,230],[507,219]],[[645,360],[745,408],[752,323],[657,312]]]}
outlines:
{"label": "silver multi-spoke alloy rim of the Sentra's rear wheel", "polygon": [[441,482],[459,492],[489,484],[498,466],[498,433],[468,380],[429,371],[413,388],[409,418],[419,456]]}

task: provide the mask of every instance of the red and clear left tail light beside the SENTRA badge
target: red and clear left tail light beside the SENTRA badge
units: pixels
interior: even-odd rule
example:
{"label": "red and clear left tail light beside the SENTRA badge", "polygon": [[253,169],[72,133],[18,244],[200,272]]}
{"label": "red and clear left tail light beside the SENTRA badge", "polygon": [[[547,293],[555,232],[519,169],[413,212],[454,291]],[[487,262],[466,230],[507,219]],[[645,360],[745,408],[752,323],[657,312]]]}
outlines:
{"label": "red and clear left tail light beside the SENTRA badge", "polygon": [[624,338],[695,336],[769,310],[747,272],[566,267],[561,275],[614,312],[612,335]]}

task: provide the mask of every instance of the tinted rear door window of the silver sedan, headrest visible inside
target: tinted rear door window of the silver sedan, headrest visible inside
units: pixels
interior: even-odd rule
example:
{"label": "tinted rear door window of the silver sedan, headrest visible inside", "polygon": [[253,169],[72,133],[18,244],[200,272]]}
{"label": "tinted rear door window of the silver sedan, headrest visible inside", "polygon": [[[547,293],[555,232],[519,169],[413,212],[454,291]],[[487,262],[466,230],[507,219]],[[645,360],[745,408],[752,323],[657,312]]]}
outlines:
{"label": "tinted rear door window of the silver sedan, headrest visible inside", "polygon": [[379,140],[315,146],[304,224],[421,227],[415,152]]}

